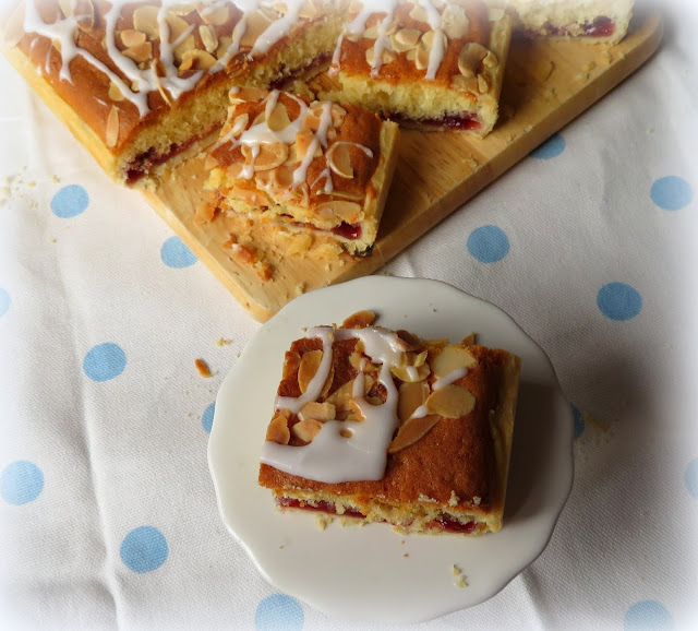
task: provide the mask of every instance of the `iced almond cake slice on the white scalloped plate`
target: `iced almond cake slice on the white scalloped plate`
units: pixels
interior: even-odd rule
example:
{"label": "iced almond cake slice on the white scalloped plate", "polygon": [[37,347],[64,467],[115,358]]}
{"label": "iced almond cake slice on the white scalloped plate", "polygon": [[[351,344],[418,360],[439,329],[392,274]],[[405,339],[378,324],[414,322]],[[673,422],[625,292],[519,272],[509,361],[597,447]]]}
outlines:
{"label": "iced almond cake slice on the white scalloped plate", "polygon": [[260,485],[281,510],[404,533],[502,527],[520,360],[359,312],[286,353]]}

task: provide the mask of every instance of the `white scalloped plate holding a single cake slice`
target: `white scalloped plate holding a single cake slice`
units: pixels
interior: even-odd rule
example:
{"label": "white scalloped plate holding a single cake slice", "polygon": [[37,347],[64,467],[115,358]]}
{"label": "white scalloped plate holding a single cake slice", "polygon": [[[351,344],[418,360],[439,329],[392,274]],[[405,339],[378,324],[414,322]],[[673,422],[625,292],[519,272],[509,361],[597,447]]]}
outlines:
{"label": "white scalloped plate holding a single cake slice", "polygon": [[[321,531],[315,514],[281,513],[257,485],[258,455],[284,354],[301,329],[361,309],[422,337],[461,340],[521,357],[505,524],[481,537],[401,536],[386,524]],[[369,276],[287,305],[250,341],[227,376],[208,443],[222,520],[278,590],[326,614],[419,622],[494,596],[545,548],[573,481],[573,419],[545,354],[502,310],[436,281]],[[455,586],[452,565],[467,576]]]}

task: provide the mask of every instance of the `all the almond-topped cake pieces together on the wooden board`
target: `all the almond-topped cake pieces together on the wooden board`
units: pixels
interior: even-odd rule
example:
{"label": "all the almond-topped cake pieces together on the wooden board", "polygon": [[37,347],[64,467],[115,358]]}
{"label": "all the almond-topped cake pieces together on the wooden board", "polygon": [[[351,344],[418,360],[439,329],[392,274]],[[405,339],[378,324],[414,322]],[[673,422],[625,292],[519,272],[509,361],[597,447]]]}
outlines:
{"label": "all the almond-topped cake pieces together on the wooden board", "polygon": [[[396,123],[484,136],[513,31],[615,43],[631,9],[631,0],[23,0],[3,40],[117,182],[153,187],[208,147],[198,221],[242,213],[369,255]],[[315,94],[301,79],[320,72],[333,87]]]}

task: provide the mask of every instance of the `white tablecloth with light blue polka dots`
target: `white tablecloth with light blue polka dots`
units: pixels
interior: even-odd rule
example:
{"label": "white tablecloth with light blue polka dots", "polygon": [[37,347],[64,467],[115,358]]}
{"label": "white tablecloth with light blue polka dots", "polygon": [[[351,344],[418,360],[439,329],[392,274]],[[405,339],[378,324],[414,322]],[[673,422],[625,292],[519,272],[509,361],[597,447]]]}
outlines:
{"label": "white tablecloth with light blue polka dots", "polygon": [[[505,309],[575,406],[547,549],[425,628],[698,623],[697,28],[674,5],[646,67],[384,270]],[[361,627],[277,593],[218,516],[213,402],[260,324],[0,80],[3,628]]]}

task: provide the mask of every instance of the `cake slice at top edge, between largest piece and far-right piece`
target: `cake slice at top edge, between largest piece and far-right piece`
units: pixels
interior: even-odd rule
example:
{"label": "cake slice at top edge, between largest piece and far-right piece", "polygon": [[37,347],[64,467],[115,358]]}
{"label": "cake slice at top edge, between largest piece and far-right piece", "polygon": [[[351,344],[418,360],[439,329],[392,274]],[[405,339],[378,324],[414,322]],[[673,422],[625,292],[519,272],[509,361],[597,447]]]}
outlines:
{"label": "cake slice at top edge, between largest piece and far-right piece", "polygon": [[354,4],[329,96],[424,130],[492,130],[512,35],[505,12],[482,0]]}

